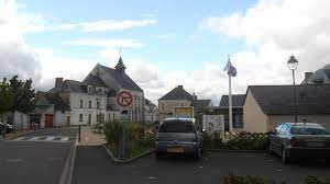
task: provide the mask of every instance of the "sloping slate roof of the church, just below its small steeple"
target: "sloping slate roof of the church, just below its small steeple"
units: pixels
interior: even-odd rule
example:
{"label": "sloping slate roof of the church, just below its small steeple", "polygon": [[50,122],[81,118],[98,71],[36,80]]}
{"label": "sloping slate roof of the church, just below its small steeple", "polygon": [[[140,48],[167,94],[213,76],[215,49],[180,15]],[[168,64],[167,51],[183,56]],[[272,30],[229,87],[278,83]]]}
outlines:
{"label": "sloping slate roof of the church, just below its small steeple", "polygon": [[121,88],[134,91],[143,91],[125,72],[102,65],[100,65],[100,68],[110,74],[121,85]]}

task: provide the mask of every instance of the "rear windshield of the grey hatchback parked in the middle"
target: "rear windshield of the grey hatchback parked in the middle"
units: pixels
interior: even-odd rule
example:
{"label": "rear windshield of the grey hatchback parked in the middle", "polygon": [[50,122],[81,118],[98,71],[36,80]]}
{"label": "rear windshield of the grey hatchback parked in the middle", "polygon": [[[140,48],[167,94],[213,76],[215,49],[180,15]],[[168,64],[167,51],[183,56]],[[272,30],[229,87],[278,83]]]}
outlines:
{"label": "rear windshield of the grey hatchback parked in the middle", "polygon": [[164,120],[160,133],[195,133],[195,127],[193,126],[193,122]]}

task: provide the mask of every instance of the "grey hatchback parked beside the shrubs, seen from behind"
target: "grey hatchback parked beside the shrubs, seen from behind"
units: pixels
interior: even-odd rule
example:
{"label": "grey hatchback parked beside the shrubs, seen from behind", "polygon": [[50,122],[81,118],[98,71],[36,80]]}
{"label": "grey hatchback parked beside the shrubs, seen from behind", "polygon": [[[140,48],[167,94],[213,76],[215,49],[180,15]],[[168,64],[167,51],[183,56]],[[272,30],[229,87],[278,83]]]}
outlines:
{"label": "grey hatchback parked beside the shrubs, seen from behind", "polygon": [[156,158],[166,154],[200,158],[202,137],[197,131],[194,118],[166,118],[156,137]]}

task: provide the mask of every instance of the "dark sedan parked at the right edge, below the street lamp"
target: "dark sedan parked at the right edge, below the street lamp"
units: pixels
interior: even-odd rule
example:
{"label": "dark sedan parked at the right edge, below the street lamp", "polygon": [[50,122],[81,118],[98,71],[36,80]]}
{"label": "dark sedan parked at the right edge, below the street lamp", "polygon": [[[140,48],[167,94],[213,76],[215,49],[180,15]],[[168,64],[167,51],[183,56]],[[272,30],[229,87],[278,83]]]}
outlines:
{"label": "dark sedan parked at the right edge, below the street lamp", "polygon": [[270,135],[268,152],[282,157],[283,163],[293,159],[330,159],[330,135],[319,124],[284,123]]}

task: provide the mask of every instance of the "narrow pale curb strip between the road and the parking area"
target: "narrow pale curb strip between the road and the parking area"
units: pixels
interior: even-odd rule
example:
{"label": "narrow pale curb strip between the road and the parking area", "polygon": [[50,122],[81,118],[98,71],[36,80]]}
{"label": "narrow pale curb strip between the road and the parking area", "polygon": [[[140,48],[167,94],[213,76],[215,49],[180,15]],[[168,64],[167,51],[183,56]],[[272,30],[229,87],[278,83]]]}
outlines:
{"label": "narrow pale curb strip between the road and the parking area", "polygon": [[58,184],[72,184],[74,165],[76,160],[77,141],[78,141],[78,136],[76,137],[76,141],[73,143],[69,150]]}

